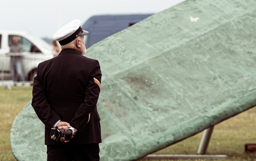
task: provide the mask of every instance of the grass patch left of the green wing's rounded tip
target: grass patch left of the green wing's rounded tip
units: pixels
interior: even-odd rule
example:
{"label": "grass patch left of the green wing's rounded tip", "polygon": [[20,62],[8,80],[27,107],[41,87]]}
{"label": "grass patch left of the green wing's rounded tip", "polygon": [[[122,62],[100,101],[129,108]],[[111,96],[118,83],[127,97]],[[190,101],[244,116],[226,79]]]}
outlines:
{"label": "grass patch left of the green wing's rounded tip", "polygon": [[0,161],[16,160],[12,155],[10,130],[16,115],[32,98],[32,87],[0,87]]}

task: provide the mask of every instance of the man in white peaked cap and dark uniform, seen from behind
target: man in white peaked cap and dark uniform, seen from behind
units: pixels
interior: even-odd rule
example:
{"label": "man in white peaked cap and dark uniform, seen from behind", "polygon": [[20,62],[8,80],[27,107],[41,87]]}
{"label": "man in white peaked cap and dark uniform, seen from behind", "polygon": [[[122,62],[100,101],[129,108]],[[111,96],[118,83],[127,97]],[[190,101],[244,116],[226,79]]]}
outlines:
{"label": "man in white peaked cap and dark uniform, seen from behind", "polygon": [[[96,108],[101,72],[86,53],[88,31],[73,20],[54,34],[59,55],[41,62],[33,83],[32,106],[45,124],[48,160],[99,160],[100,117]],[[73,138],[51,139],[50,130],[72,130]]]}

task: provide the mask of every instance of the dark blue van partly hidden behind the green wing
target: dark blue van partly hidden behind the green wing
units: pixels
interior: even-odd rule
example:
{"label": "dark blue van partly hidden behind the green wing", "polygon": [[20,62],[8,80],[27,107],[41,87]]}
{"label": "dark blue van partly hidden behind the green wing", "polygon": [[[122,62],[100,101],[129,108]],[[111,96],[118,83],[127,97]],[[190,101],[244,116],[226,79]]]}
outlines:
{"label": "dark blue van partly hidden behind the green wing", "polygon": [[81,28],[88,30],[86,47],[89,48],[95,43],[120,32],[153,14],[128,14],[128,15],[100,15],[89,18]]}

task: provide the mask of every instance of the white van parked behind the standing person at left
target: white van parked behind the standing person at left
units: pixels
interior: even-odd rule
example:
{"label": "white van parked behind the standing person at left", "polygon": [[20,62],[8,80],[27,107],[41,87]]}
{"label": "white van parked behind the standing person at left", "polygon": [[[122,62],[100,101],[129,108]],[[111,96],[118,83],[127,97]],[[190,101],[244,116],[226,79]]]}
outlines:
{"label": "white van parked behind the standing person at left", "polygon": [[0,30],[0,78],[12,79],[10,73],[10,45],[12,37],[18,37],[23,46],[22,68],[25,80],[33,81],[37,74],[37,66],[44,60],[54,56],[52,47],[42,39],[39,39],[28,32]]}

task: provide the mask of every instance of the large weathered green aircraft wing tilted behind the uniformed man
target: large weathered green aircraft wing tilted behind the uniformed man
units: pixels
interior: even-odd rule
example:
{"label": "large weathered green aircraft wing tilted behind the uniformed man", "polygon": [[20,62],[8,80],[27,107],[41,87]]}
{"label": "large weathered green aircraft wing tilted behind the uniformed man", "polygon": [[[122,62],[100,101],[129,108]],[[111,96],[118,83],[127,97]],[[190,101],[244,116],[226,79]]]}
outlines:
{"label": "large weathered green aircraft wing tilted behind the uniformed man", "polygon": [[[187,0],[90,47],[103,73],[100,160],[142,158],[255,106],[255,8]],[[45,160],[43,134],[28,103],[12,126],[14,156]]]}

